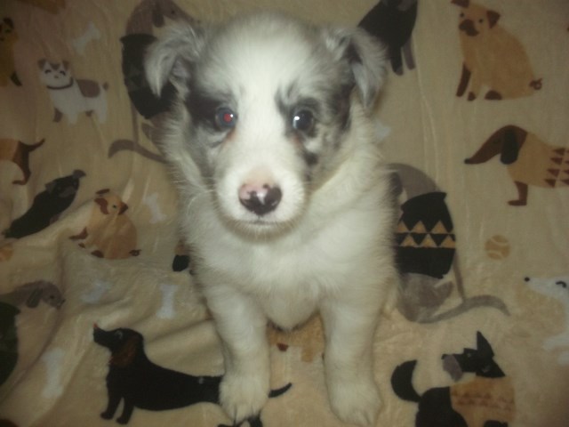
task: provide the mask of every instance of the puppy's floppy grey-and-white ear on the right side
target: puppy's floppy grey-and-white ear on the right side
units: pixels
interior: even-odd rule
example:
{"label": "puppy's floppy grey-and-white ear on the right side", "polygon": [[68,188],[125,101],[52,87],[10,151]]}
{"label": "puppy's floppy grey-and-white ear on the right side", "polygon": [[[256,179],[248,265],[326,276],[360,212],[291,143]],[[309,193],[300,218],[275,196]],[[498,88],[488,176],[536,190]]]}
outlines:
{"label": "puppy's floppy grey-and-white ear on the right side", "polygon": [[347,61],[365,109],[372,109],[385,80],[387,50],[362,28],[325,28],[325,44],[334,60]]}

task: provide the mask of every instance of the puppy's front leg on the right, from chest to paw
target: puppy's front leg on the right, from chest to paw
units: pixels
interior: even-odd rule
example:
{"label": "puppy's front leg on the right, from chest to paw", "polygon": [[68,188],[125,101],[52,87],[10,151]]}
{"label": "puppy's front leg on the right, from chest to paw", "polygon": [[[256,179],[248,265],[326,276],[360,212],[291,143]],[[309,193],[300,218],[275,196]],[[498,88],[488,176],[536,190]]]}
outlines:
{"label": "puppy's front leg on the right, from chest to paw", "polygon": [[346,423],[373,425],[381,400],[373,380],[373,335],[378,310],[327,302],[325,375],[333,412]]}

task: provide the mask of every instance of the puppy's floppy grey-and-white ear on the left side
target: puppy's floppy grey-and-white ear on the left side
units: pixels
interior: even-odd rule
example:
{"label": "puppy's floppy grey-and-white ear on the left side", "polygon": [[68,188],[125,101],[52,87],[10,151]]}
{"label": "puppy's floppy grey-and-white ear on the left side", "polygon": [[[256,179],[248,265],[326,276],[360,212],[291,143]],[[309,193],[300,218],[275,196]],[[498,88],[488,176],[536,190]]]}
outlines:
{"label": "puppy's floppy grey-and-white ear on the left side", "polygon": [[160,97],[164,85],[171,82],[180,97],[188,93],[192,68],[204,47],[204,29],[187,23],[167,28],[164,34],[148,47],[144,71],[148,85]]}

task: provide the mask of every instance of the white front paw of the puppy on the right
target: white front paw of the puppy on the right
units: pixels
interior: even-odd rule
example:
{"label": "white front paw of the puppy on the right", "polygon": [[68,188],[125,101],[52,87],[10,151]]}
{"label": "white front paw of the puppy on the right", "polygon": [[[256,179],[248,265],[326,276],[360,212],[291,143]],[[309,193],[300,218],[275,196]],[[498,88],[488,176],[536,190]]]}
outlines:
{"label": "white front paw of the puppy on the right", "polygon": [[381,400],[371,379],[329,381],[328,394],[334,414],[344,423],[375,425]]}

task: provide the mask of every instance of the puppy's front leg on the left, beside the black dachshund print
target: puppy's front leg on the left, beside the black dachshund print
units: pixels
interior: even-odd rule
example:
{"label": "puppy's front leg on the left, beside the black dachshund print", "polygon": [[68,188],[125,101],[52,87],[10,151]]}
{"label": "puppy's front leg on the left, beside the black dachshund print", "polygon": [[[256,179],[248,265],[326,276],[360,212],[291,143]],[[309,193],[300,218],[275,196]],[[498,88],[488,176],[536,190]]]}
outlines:
{"label": "puppy's front leg on the left, beside the black dachshund print", "polygon": [[221,407],[235,422],[257,415],[268,399],[267,318],[252,298],[230,286],[205,292],[223,343]]}

